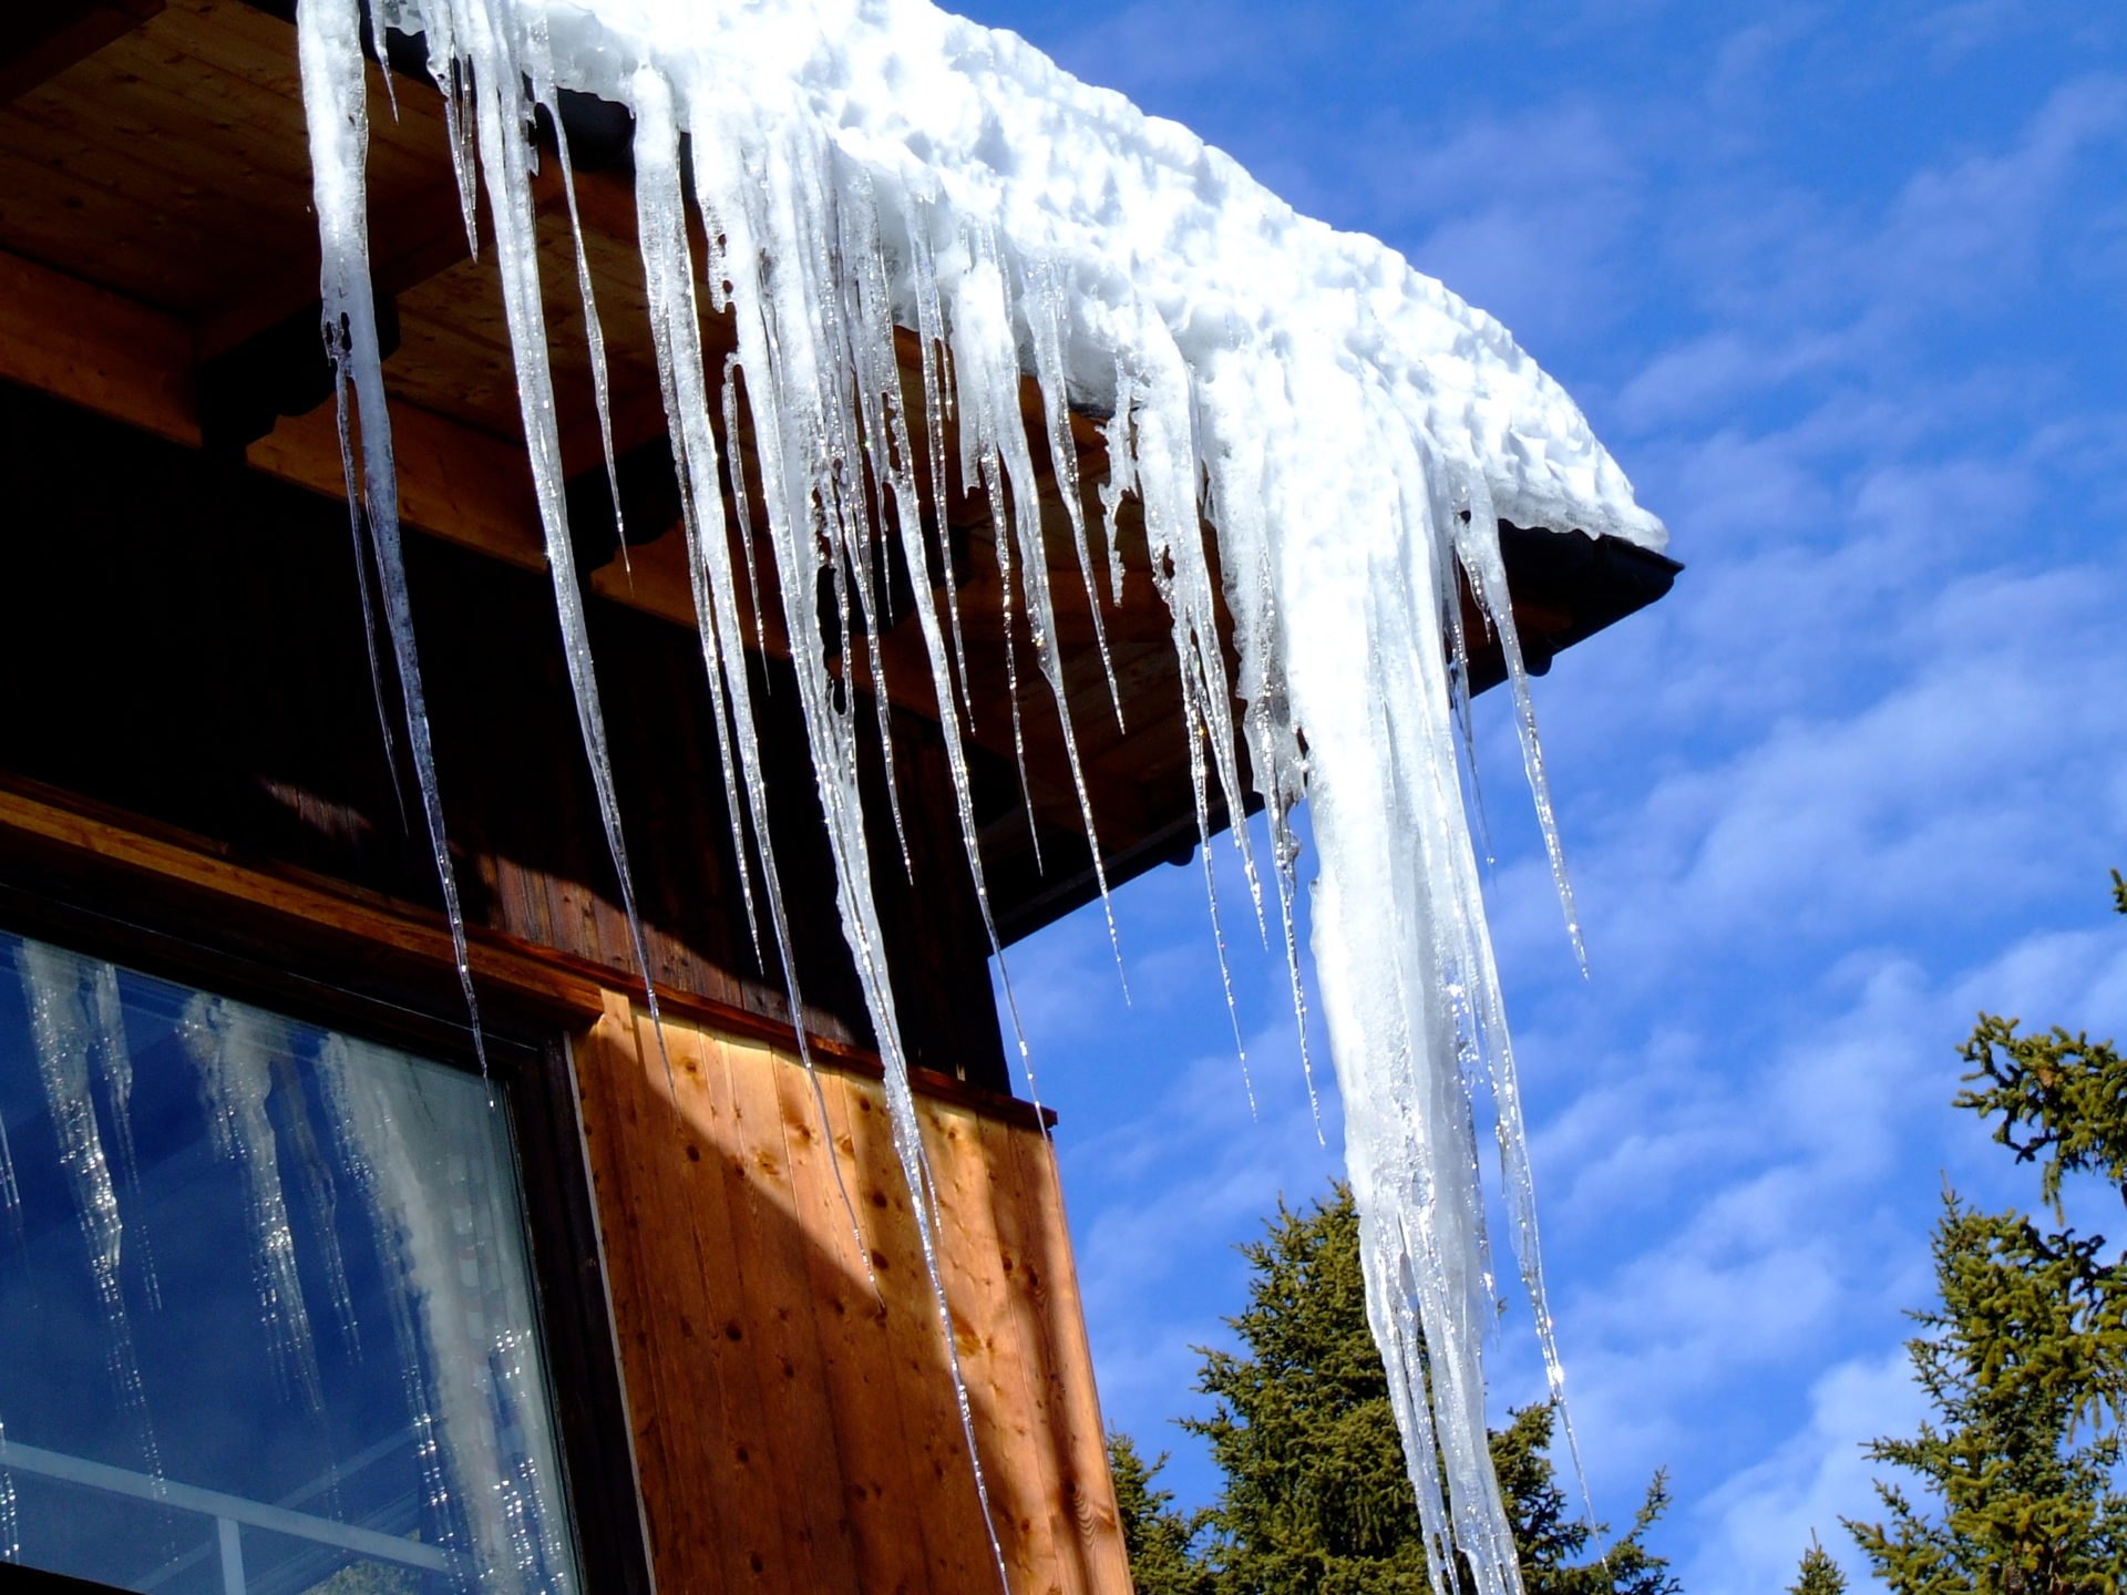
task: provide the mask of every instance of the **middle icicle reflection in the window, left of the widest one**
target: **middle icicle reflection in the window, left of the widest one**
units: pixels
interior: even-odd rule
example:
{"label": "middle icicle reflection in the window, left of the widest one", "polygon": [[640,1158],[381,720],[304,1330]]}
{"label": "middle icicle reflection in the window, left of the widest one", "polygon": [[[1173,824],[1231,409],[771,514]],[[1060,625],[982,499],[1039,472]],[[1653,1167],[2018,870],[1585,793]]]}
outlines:
{"label": "middle icicle reflection in the window, left of the widest one", "polygon": [[200,1106],[206,1110],[215,1151],[242,1176],[259,1323],[277,1372],[321,1412],[325,1389],[311,1340],[311,1308],[296,1267],[296,1227],[281,1189],[279,1140],[266,1116],[274,1055],[287,1051],[285,1027],[255,1008],[200,993],[185,1004],[179,1034],[200,1070]]}

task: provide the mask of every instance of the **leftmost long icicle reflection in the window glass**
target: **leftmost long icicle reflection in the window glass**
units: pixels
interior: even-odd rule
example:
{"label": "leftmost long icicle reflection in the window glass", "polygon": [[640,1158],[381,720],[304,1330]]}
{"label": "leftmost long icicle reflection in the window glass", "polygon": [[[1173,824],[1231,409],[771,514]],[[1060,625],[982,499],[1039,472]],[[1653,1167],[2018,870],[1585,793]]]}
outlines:
{"label": "leftmost long icicle reflection in the window glass", "polygon": [[[155,1425],[147,1410],[147,1384],[140,1380],[140,1357],[125,1312],[125,1282],[119,1276],[125,1225],[119,1216],[111,1161],[104,1157],[104,1138],[96,1125],[96,1097],[89,1091],[91,1057],[102,1042],[94,1012],[96,978],[111,966],[89,963],[43,942],[23,942],[19,957],[21,995],[30,1008],[30,1042],[45,1085],[45,1110],[60,1142],[60,1168],[66,1170],[74,1193],[74,1219],[89,1253],[89,1276],[96,1280],[96,1302],[104,1312],[104,1333],[111,1338],[111,1382],[119,1406],[140,1427],[147,1472],[162,1478],[162,1448],[155,1444]],[[85,995],[89,1004],[83,1002]]]}

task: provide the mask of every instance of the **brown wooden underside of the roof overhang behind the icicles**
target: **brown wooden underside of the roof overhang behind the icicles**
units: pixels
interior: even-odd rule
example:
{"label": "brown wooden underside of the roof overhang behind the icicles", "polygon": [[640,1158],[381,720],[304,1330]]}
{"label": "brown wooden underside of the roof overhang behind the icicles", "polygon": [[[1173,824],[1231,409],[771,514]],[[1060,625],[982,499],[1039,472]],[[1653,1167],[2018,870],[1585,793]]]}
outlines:
{"label": "brown wooden underside of the roof overhang behind the icicles", "polygon": [[[342,493],[330,370],[317,349],[319,245],[308,208],[304,111],[291,0],[70,0],[0,23],[0,379],[38,387],[187,444],[240,453],[253,470]],[[419,43],[393,38],[402,68]],[[381,79],[372,70],[372,79]],[[440,100],[415,70],[396,77],[398,119],[370,147],[379,308],[396,342],[385,376],[411,525],[496,559],[540,568],[545,551],[523,457],[515,374],[491,264],[470,257],[447,160]],[[381,96],[381,81],[372,81]],[[562,404],[562,453],[576,506],[579,568],[617,604],[693,625],[693,602],[644,328],[627,160],[627,111],[564,98],[585,242],[613,366],[619,489],[634,547],[613,538],[610,489],[583,355],[574,259],[559,179],[536,179],[540,253]],[[549,138],[553,132],[549,130]],[[704,321],[713,362],[734,349],[727,317]],[[917,383],[921,351],[902,338]],[[1104,708],[1093,615],[1044,442],[1040,391],[1021,408],[1042,470],[1042,517],[1057,595],[1064,678],[1078,753],[1119,883],[1189,855],[1198,819],[1189,749],[1176,734],[1180,685],[1168,617],[1153,598],[1142,515],[1119,517],[1123,602],[1106,632],[1125,725]],[[1093,410],[1070,417],[1083,498],[1098,513],[1106,453]],[[721,432],[721,427],[719,427]],[[736,444],[749,449],[740,417]],[[947,438],[947,457],[953,455]],[[927,483],[925,483],[927,491]],[[1027,797],[1019,800],[1006,700],[1002,576],[983,493],[944,483],[927,536],[951,551],[968,617],[974,785],[1004,940],[1095,895],[1091,849],[1053,712],[1025,700]],[[727,502],[734,525],[738,506]],[[1678,566],[1621,536],[1502,523],[1502,553],[1531,672],[1555,653],[1668,591]],[[781,651],[764,604],[755,647]],[[1466,598],[1470,685],[1504,678],[1497,640]],[[881,644],[893,700],[936,719],[923,649],[906,615]],[[1221,625],[1229,619],[1221,610]],[[1019,640],[1019,672],[1034,676]],[[853,661],[868,685],[864,659]],[[1212,795],[1212,825],[1227,815]]]}

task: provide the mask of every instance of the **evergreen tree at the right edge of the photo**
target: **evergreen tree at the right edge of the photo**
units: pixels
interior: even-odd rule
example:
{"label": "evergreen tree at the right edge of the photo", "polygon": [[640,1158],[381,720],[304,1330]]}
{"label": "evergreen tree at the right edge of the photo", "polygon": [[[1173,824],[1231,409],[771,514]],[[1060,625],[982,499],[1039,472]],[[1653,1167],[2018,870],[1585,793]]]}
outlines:
{"label": "evergreen tree at the right edge of the photo", "polygon": [[[2118,872],[2112,889],[2127,914]],[[2061,1176],[2097,1174],[2127,1197],[2127,1063],[2110,1042],[2027,1036],[1993,1014],[1980,1014],[1963,1057],[1978,1085],[1957,1106],[1997,1119],[1995,1140],[2038,1163],[2053,1227],[1944,1195],[1942,1299],[1914,1314],[1923,1333],[1908,1342],[1933,1416],[1868,1448],[1927,1499],[1878,1482],[1887,1521],[1846,1527],[1897,1595],[2116,1595],[2127,1263],[2065,1225]]]}

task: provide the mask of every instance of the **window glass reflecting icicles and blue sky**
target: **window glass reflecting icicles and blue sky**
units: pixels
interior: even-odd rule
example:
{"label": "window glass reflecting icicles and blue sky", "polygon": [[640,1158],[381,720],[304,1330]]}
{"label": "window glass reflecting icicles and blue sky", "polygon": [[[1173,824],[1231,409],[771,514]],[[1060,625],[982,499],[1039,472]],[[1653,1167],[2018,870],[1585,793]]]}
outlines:
{"label": "window glass reflecting icicles and blue sky", "polygon": [[0,1559],[574,1591],[487,1082],[0,934]]}

